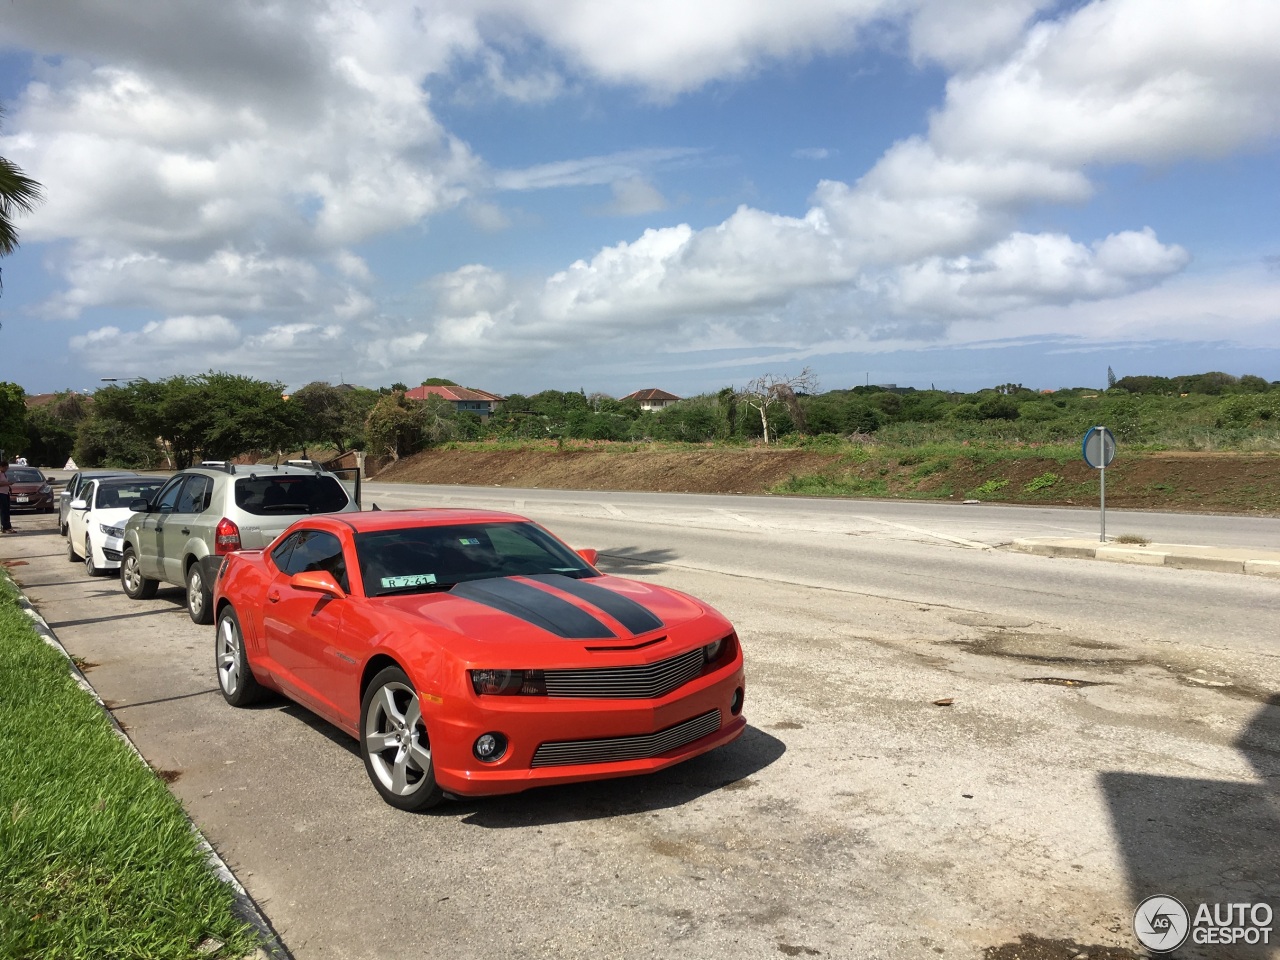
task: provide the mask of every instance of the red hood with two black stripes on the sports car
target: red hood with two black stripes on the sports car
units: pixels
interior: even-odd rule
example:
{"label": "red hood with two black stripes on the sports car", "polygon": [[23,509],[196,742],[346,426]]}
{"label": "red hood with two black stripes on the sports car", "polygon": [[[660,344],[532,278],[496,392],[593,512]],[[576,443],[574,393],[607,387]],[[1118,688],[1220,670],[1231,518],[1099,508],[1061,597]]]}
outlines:
{"label": "red hood with two black stripes on the sports car", "polygon": [[634,637],[671,631],[708,614],[676,590],[621,577],[575,580],[558,575],[495,577],[458,584],[448,593],[387,596],[410,621],[480,643],[588,641],[634,646]]}

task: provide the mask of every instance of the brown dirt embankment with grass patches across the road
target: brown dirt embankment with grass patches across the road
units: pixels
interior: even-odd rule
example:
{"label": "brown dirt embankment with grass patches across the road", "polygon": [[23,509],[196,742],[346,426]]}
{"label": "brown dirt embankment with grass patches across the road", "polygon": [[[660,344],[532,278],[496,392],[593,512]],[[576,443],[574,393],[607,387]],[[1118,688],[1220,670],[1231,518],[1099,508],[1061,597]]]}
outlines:
{"label": "brown dirt embankment with grass patches across the road", "polygon": [[[572,490],[803,495],[1093,506],[1098,471],[1050,457],[803,449],[440,449],[408,457],[380,481]],[[1107,468],[1107,504],[1280,515],[1280,456],[1133,453]]]}

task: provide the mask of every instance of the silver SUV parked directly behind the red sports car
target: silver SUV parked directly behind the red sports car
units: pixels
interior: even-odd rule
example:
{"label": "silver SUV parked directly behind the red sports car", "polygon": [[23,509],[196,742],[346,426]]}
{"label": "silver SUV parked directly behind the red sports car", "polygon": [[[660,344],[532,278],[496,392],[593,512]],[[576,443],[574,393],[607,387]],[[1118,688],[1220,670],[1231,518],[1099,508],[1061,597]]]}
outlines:
{"label": "silver SUV parked directly behind the red sports car", "polygon": [[[347,471],[342,471],[347,472]],[[355,471],[352,471],[355,474]],[[160,582],[187,588],[187,612],[212,622],[223,557],[266,547],[298,517],[360,509],[360,477],[344,483],[319,465],[201,463],[173,475],[150,500],[129,504],[120,585],[134,600]]]}

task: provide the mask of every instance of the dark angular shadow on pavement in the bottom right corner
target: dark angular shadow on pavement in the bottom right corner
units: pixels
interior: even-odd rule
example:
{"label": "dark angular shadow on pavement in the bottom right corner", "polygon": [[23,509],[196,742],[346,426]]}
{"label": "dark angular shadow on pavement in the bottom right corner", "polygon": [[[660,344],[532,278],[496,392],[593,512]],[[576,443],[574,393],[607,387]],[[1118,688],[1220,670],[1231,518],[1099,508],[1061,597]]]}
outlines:
{"label": "dark angular shadow on pavement in the bottom right corner", "polygon": [[[1176,897],[1192,918],[1176,957],[1260,959],[1280,941],[1280,694],[1270,696],[1236,739],[1257,782],[1101,774],[1133,902]],[[1271,908],[1270,945],[1197,943],[1201,904]],[[1262,913],[1265,915],[1265,911]],[[1128,918],[1125,918],[1128,919]],[[1261,936],[1261,934],[1260,934]]]}

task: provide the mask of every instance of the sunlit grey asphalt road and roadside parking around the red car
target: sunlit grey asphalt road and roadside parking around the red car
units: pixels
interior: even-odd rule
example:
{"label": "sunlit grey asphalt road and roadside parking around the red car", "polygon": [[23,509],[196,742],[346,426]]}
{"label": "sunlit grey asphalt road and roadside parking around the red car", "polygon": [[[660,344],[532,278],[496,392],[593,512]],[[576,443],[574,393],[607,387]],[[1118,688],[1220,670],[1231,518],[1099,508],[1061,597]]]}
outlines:
{"label": "sunlit grey asphalt road and roadside parking around the red car", "polygon": [[[1280,914],[1280,582],[991,548],[1079,535],[1083,511],[365,494],[443,498],[716,604],[746,650],[748,733],[654,777],[398,813],[332,727],[224,704],[180,591],[88,580],[49,520],[0,540],[300,960],[977,960],[1023,934],[1137,950],[1153,893]],[[1115,530],[1206,543],[1235,522],[1151,516]]]}

